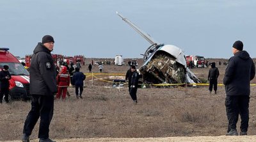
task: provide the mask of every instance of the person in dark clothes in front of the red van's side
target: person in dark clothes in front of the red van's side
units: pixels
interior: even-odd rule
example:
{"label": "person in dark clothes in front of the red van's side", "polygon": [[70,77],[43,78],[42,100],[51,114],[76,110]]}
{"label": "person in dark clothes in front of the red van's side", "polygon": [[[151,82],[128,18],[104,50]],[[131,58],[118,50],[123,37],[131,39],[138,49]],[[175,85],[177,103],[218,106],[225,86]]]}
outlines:
{"label": "person in dark clothes in front of the red van's side", "polygon": [[3,69],[0,72],[0,104],[3,102],[3,96],[6,103],[9,102],[9,80],[12,78],[10,72],[8,71],[8,65],[4,65]]}

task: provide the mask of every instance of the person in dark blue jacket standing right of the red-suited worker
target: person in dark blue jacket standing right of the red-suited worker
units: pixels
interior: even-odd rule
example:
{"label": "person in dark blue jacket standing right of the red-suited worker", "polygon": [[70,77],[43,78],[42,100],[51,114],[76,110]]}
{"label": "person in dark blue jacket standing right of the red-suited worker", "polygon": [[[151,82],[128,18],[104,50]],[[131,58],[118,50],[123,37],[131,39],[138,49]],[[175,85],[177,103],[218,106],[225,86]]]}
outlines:
{"label": "person in dark blue jacket standing right of the red-suited worker", "polygon": [[80,68],[76,67],[76,72],[74,73],[73,77],[72,77],[72,82],[73,84],[76,86],[76,98],[81,98],[82,97],[82,93],[83,93],[83,86],[84,86],[84,79],[86,78],[86,76],[83,74],[83,72],[79,72]]}

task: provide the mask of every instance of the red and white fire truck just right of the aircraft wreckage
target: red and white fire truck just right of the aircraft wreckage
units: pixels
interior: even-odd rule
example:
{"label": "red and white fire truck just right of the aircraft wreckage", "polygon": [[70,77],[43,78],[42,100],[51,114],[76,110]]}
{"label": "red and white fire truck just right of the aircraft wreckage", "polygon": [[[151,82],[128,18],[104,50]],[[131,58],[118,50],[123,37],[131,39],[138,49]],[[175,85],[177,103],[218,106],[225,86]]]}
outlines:
{"label": "red and white fire truck just right of the aircraft wreckage", "polygon": [[204,68],[204,65],[205,65],[205,58],[204,58],[204,56],[189,55],[189,56],[186,56],[186,60],[187,60],[187,66],[188,67],[189,67],[189,62],[192,61],[193,67]]}

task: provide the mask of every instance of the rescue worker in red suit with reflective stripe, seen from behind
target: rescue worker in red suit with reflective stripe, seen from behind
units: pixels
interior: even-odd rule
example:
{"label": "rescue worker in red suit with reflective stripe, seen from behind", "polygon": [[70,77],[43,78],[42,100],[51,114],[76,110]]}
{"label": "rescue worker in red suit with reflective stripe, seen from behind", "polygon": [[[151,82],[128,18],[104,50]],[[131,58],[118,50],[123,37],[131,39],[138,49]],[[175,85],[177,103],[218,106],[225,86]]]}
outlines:
{"label": "rescue worker in red suit with reflective stripe, seen from behind", "polygon": [[69,83],[70,75],[67,72],[67,67],[63,66],[60,74],[57,75],[58,93],[56,100],[60,100],[60,95],[62,95],[62,100],[66,100]]}

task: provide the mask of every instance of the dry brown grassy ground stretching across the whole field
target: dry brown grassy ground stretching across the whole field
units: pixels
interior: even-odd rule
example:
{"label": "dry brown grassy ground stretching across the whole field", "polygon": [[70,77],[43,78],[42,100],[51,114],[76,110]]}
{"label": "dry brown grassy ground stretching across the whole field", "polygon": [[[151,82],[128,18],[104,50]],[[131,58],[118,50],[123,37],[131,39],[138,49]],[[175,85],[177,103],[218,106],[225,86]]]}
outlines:
{"label": "dry brown grassy ground stretching across the whole field", "polygon": [[[102,61],[104,59],[93,59]],[[214,60],[214,59],[213,59]],[[82,72],[88,73],[88,63]],[[215,59],[218,61],[218,59]],[[139,66],[143,62],[138,59]],[[127,60],[125,61],[127,63]],[[218,66],[222,83],[225,66]],[[128,65],[104,65],[103,73],[125,74]],[[225,136],[225,89],[218,86],[217,95],[209,94],[207,86],[138,89],[138,104],[132,103],[124,88],[113,88],[109,75],[99,75],[93,65],[92,75],[86,76],[83,99],[76,99],[74,88],[68,88],[71,97],[54,102],[54,116],[50,138],[56,141],[256,141],[255,86],[251,87],[250,136]],[[209,68],[193,68],[200,79],[207,79]],[[124,78],[124,76],[115,76]],[[256,83],[253,79],[252,83]],[[0,141],[20,141],[30,102],[13,101],[0,105]],[[239,120],[240,121],[240,120]],[[237,130],[239,131],[239,123]],[[38,141],[38,123],[31,141]]]}

